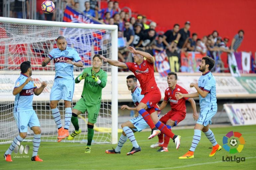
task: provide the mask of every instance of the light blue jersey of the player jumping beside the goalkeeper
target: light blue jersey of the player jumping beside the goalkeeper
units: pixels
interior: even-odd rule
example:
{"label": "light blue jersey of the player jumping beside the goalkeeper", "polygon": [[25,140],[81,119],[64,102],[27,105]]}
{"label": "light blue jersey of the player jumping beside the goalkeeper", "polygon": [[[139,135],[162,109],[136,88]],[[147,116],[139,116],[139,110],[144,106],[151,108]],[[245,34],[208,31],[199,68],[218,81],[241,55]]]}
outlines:
{"label": "light blue jersey of the player jumping beside the goalkeeper", "polygon": [[69,80],[74,79],[73,65],[66,63],[66,60],[75,62],[81,61],[81,58],[74,48],[66,47],[66,49],[63,51],[59,48],[54,48],[52,51],[50,51],[48,57],[54,59],[55,78],[59,76]]}

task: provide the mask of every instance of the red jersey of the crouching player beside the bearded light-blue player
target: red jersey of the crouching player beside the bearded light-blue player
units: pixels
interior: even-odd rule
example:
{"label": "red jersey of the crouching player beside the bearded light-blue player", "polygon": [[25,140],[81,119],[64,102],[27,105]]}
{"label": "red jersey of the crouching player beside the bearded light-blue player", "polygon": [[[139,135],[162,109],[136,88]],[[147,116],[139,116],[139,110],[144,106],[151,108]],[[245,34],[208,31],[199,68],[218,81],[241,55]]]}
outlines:
{"label": "red jersey of the crouching player beside the bearded light-blue player", "polygon": [[173,89],[173,91],[172,91],[172,89],[170,87],[168,87],[165,90],[165,98],[164,98],[164,100],[170,102],[172,111],[186,113],[186,104],[185,103],[186,103],[186,100],[188,100],[189,98],[184,97],[184,98],[178,100],[175,97],[175,93],[176,92],[180,92],[182,94],[187,94],[188,93],[187,90],[185,90],[184,88],[182,88],[181,86],[176,84],[176,87]]}

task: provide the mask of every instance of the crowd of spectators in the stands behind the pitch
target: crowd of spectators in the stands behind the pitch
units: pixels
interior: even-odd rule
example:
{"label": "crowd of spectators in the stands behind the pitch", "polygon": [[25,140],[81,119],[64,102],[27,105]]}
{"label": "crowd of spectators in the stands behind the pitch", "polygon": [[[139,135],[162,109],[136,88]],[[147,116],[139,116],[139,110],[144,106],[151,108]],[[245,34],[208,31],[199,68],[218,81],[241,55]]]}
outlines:
{"label": "crowd of spectators in the stands behind the pitch", "polygon": [[[12,0],[11,1],[11,17],[24,18],[23,15],[29,15],[29,11],[22,12],[22,1],[24,0]],[[44,0],[37,0],[37,19],[54,21],[56,11],[52,14],[44,14],[41,10],[41,3]],[[25,0],[25,7],[29,6],[28,0]],[[23,2],[23,4],[24,4]],[[57,1],[53,0],[54,3]],[[133,61],[133,57],[129,55],[126,50],[128,45],[134,47],[142,47],[146,52],[154,55],[155,52],[166,52],[167,56],[180,56],[181,52],[188,55],[190,51],[198,51],[203,55],[212,57],[219,67],[215,69],[215,72],[224,71],[224,64],[220,54],[223,52],[237,51],[244,38],[244,31],[239,30],[238,34],[234,38],[221,37],[218,31],[214,30],[203,37],[198,37],[197,33],[190,32],[191,23],[187,21],[183,26],[174,24],[173,28],[165,33],[160,31],[156,32],[157,23],[147,19],[147,16],[141,14],[129,15],[126,11],[121,11],[118,1],[108,1],[107,7],[99,9],[97,0],[88,0],[84,4],[79,4],[77,0],[63,0],[65,5],[72,6],[74,9],[81,9],[83,6],[83,13],[90,15],[102,23],[118,26],[118,38],[119,42],[122,42],[118,46],[118,59],[121,62]],[[14,8],[15,7],[15,8]],[[65,9],[65,7],[64,7]],[[15,12],[14,12],[15,11]],[[231,41],[231,45],[227,46]],[[180,60],[180,58],[179,58]],[[180,61],[179,61],[180,63]]]}

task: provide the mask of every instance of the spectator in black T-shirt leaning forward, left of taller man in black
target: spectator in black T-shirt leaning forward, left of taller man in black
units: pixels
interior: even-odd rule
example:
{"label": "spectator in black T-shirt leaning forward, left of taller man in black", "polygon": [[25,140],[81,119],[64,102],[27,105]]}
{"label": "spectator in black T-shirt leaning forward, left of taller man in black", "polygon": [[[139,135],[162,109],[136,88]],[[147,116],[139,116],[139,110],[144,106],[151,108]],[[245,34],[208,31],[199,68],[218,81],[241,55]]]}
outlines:
{"label": "spectator in black T-shirt leaning forward, left of taller man in black", "polygon": [[164,42],[164,45],[167,47],[167,50],[174,52],[175,49],[173,45],[171,46],[171,43],[174,40],[176,40],[179,30],[180,30],[180,25],[175,24],[172,30],[168,30],[165,32],[163,37],[163,42]]}

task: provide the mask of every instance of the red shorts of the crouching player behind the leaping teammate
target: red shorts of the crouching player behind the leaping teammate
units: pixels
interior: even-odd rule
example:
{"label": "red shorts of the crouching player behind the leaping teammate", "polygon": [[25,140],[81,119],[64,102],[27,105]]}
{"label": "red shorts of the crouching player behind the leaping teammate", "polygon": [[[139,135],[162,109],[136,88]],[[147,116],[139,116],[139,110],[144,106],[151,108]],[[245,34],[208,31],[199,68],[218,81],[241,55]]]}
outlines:
{"label": "red shorts of the crouching player behind the leaping teammate", "polygon": [[177,126],[178,123],[183,121],[186,117],[186,113],[183,112],[176,112],[176,111],[169,111],[167,114],[165,114],[159,121],[166,124],[166,122],[171,119],[172,121],[175,121],[175,125]]}

